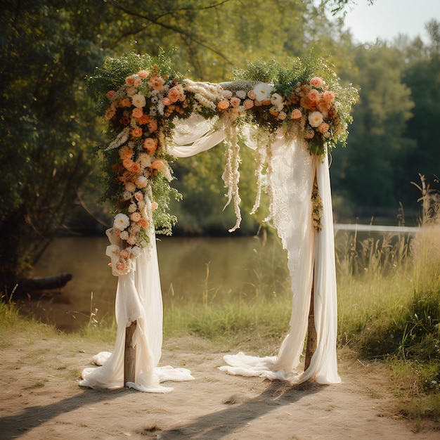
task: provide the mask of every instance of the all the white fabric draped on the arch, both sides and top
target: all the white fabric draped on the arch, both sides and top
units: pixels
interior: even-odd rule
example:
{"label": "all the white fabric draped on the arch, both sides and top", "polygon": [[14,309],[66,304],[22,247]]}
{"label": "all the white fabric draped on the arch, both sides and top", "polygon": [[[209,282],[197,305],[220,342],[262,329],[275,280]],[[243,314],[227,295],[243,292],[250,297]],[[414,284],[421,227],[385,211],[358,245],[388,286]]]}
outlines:
{"label": "all the white fabric draped on the arch, both sides and top", "polygon": [[[176,123],[174,145],[169,154],[190,157],[209,150],[223,141],[227,132],[218,119],[205,120],[191,116]],[[243,131],[247,144],[255,148],[252,129]],[[290,380],[295,383],[316,380],[321,384],[340,382],[337,375],[336,335],[337,301],[335,250],[333,242],[332,201],[328,159],[311,156],[306,141],[291,140],[278,131],[268,136],[271,142],[271,216],[278,235],[287,250],[292,278],[292,316],[290,332],[281,345],[278,356],[258,358],[239,353],[224,356],[228,365],[220,367],[226,373]],[[318,190],[323,200],[322,231],[313,229],[311,193],[316,174]],[[110,235],[111,239],[111,235]],[[145,392],[169,392],[165,380],[191,380],[190,371],[170,366],[157,367],[162,349],[162,294],[154,235],[151,246],[135,260],[134,271],[119,276],[115,313],[117,337],[112,354],[96,356],[98,368],[83,371],[83,386],[92,388],[123,387],[125,329],[136,321],[136,379],[129,386]],[[313,279],[314,273],[314,279]],[[297,372],[304,349],[311,286],[314,284],[314,313],[317,348],[309,368]]]}

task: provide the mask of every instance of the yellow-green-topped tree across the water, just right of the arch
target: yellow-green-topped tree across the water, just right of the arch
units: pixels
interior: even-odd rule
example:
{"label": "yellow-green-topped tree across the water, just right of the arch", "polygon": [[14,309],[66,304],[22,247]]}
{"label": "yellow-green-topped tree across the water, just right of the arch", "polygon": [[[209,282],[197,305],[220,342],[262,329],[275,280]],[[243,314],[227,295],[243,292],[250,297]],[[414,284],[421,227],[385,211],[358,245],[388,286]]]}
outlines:
{"label": "yellow-green-topped tree across the water, just right of the arch", "polygon": [[397,212],[408,176],[403,164],[415,148],[406,136],[412,116],[410,89],[403,84],[403,61],[396,48],[378,43],[354,48],[352,71],[360,89],[354,107],[347,150],[335,150],[332,186],[337,197],[349,203],[351,214],[389,215]]}

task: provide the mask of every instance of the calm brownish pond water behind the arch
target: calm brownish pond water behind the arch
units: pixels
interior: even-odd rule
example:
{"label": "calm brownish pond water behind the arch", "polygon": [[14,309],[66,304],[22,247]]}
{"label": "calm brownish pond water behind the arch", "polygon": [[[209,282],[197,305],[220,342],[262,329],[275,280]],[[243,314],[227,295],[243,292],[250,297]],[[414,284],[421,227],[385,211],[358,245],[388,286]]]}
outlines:
{"label": "calm brownish pond water behind the arch", "polygon": [[[357,227],[359,235],[389,233],[413,234],[416,228]],[[335,225],[336,244],[344,240],[344,233],[353,234],[352,225]],[[347,237],[346,237],[347,238]],[[271,238],[270,240],[276,240]],[[276,242],[261,248],[256,238],[176,238],[160,237],[157,241],[162,298],[164,307],[170,302],[201,302],[207,294],[209,301],[221,302],[237,295],[251,295],[254,283],[261,281],[261,273],[275,273],[276,264],[283,266],[285,252]],[[117,277],[108,267],[105,255],[106,237],[59,238],[48,247],[37,266],[34,276],[53,276],[72,273],[72,280],[56,295],[38,300],[21,301],[24,313],[33,313],[43,322],[71,332],[86,325],[91,313],[98,321],[114,316]],[[336,246],[338,249],[338,246]],[[270,253],[270,255],[269,255]],[[267,259],[266,266],[261,261]],[[258,263],[260,266],[258,266]],[[283,272],[277,272],[283,276]],[[258,278],[260,276],[260,278]],[[273,276],[276,277],[276,276]],[[270,281],[269,281],[270,283]]]}

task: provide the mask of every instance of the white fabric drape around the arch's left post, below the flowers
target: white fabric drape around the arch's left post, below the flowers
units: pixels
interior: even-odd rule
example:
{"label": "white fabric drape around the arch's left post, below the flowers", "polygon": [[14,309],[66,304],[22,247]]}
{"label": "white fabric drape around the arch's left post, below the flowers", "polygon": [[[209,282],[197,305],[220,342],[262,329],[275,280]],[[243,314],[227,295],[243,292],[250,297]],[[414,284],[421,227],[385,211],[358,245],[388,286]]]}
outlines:
{"label": "white fabric drape around the arch's left post, below the flowers", "polygon": [[[108,233],[112,245],[117,244]],[[160,382],[192,380],[186,368],[157,367],[162,351],[162,291],[155,235],[150,236],[149,247],[134,261],[134,270],[119,276],[116,291],[115,315],[117,335],[112,354],[101,353],[92,361],[98,368],[82,372],[83,387],[117,389],[124,387],[125,329],[136,321],[133,344],[136,347],[135,382],[127,386],[143,392],[166,393],[171,387]]]}

